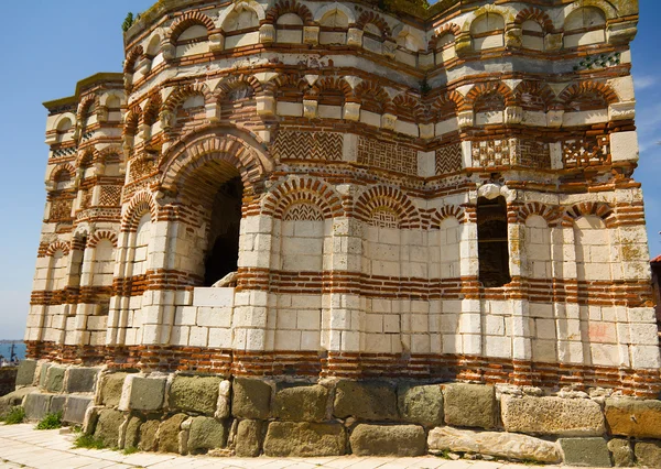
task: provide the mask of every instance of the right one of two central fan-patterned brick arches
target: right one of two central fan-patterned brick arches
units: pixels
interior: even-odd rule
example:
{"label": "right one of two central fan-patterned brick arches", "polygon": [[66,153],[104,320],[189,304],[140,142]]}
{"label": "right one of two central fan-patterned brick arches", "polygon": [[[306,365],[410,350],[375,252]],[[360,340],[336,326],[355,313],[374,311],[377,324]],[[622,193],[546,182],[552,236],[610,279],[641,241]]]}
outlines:
{"label": "right one of two central fan-patterned brick arches", "polygon": [[372,186],[358,197],[355,205],[356,216],[359,220],[369,222],[378,209],[389,209],[398,216],[398,228],[420,228],[421,217],[405,194],[395,187]]}

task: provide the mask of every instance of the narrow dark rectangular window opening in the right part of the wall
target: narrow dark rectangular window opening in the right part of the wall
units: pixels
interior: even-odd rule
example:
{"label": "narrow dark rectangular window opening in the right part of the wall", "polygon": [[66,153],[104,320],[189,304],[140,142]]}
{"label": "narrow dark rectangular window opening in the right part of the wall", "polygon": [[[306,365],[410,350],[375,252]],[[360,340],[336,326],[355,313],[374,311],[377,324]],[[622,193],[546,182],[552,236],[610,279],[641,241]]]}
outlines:
{"label": "narrow dark rectangular window opening in the right part of the wall", "polygon": [[511,282],[505,197],[477,200],[477,255],[479,281],[487,288]]}

